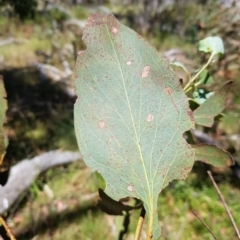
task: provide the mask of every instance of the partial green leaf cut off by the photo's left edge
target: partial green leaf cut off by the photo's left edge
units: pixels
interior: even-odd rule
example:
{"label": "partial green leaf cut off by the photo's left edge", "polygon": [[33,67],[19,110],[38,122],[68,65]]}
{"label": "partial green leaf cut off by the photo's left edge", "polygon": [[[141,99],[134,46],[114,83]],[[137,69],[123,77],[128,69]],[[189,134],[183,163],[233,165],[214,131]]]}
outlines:
{"label": "partial green leaf cut off by the photo's left edge", "polygon": [[0,164],[2,164],[3,158],[6,153],[8,145],[7,137],[4,133],[3,124],[6,121],[7,100],[6,91],[4,88],[3,78],[0,75]]}

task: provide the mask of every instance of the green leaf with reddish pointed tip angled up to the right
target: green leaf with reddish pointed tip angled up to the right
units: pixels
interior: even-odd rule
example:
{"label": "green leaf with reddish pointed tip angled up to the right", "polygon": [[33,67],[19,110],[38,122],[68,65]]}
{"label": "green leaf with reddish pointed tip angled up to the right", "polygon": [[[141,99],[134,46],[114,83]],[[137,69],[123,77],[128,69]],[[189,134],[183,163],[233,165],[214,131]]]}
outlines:
{"label": "green leaf with reddish pointed tip angled up to the right", "polygon": [[211,127],[214,117],[220,114],[226,107],[229,88],[232,82],[227,82],[218,92],[209,97],[193,112],[196,124]]}

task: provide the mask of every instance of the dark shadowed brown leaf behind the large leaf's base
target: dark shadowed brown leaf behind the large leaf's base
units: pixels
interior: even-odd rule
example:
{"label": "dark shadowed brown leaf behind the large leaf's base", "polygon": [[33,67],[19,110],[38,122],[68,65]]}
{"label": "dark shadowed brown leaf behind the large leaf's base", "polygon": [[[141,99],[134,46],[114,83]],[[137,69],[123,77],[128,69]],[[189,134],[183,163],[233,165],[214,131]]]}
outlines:
{"label": "dark shadowed brown leaf behind the large leaf's base", "polygon": [[129,212],[133,209],[140,209],[142,203],[137,206],[125,205],[121,201],[116,201],[110,198],[102,189],[98,190],[100,199],[98,200],[98,207],[109,215],[123,215],[124,211]]}

